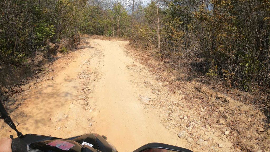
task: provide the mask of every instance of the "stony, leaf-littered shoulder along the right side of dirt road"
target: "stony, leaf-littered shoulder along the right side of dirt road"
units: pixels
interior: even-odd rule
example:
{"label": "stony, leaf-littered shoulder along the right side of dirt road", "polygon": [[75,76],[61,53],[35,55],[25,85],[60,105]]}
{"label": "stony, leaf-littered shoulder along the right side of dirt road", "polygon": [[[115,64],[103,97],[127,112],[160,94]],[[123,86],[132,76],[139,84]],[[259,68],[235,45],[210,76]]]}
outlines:
{"label": "stony, leaf-littered shoulder along the right side of dirt road", "polygon": [[[151,94],[138,95],[146,111],[158,111],[164,127],[187,141],[186,148],[193,151],[270,151],[268,121],[258,108],[207,85],[177,80],[176,75],[153,64],[153,58],[139,56],[140,51],[131,50],[127,54],[150,71],[141,76],[139,85],[151,91]],[[129,66],[131,73],[141,68]]]}

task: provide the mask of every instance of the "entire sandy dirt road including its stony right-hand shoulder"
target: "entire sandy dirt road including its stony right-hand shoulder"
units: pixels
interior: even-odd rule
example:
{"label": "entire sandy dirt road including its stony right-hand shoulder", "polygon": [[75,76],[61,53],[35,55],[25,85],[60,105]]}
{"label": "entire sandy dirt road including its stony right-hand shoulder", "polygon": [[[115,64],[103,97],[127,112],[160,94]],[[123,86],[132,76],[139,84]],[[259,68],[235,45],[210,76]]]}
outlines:
{"label": "entire sandy dirt road including its stony right-hand shoulder", "polygon": [[[172,93],[171,82],[162,79],[161,73],[150,72],[151,68],[126,53],[128,43],[81,38],[77,51],[59,58],[38,79],[23,85],[23,92],[10,97],[16,100],[8,108],[17,107],[11,117],[18,121],[18,129],[24,134],[62,138],[96,132],[107,136],[120,152],[150,142],[194,151],[235,151],[231,141],[237,133],[227,125],[235,117],[213,111],[214,105],[197,104],[205,102],[202,96],[207,92],[200,85],[188,88],[183,83]],[[226,99],[222,94],[216,96]],[[251,109],[226,100],[234,105],[230,108]],[[249,122],[260,114],[251,112]],[[237,115],[243,114],[247,115]],[[2,121],[0,125],[1,137],[15,136]],[[256,127],[251,131],[260,135]]]}

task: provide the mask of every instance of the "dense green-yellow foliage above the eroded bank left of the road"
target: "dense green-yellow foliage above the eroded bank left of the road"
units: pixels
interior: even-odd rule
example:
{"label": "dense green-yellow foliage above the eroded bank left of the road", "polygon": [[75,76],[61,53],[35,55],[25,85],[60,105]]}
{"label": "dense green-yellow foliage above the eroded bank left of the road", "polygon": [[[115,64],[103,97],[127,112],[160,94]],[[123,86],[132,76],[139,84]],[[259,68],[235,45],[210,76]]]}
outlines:
{"label": "dense green-yellow foliage above the eroded bank left of the road", "polygon": [[0,2],[0,62],[20,64],[26,57],[35,55],[35,51],[42,51],[50,39],[72,38],[81,24],[86,2]]}

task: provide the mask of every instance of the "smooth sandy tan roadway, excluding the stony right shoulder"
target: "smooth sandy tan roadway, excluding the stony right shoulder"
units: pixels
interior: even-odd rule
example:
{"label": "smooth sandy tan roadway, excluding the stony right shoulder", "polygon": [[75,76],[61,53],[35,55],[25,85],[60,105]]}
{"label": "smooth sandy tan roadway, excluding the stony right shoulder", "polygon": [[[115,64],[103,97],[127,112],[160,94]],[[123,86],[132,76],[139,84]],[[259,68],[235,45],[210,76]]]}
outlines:
{"label": "smooth sandy tan roadway, excluding the stony right shoulder", "polygon": [[[22,86],[24,92],[16,96],[21,105],[11,113],[18,130],[62,138],[96,132],[120,152],[150,142],[175,145],[176,131],[166,129],[158,108],[149,104],[157,100],[149,84],[162,82],[125,54],[128,43],[82,38],[77,51]],[[0,137],[15,137],[2,121],[0,125]],[[177,146],[186,143],[178,139]]]}

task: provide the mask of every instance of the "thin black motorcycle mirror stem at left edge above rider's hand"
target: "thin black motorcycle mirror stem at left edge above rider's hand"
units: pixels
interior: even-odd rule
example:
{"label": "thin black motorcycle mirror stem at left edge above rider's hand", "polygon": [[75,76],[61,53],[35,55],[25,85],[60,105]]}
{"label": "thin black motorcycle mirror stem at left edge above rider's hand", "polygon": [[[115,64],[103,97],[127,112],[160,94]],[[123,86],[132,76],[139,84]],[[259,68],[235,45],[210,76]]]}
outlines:
{"label": "thin black motorcycle mirror stem at left edge above rider's hand", "polygon": [[[11,127],[13,130],[16,131],[17,136],[19,138],[23,138],[23,134],[21,132],[19,132],[16,128],[16,125],[13,123],[11,117],[9,117],[8,112],[6,111],[4,104],[2,103],[2,101],[0,101],[0,118],[4,119],[5,123],[9,125],[9,127]],[[12,137],[12,136],[11,136]]]}

